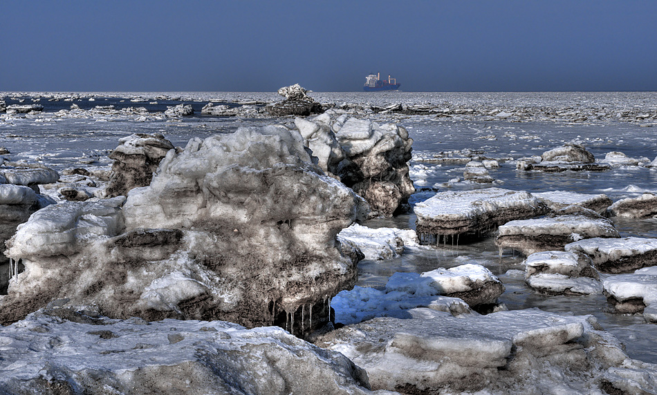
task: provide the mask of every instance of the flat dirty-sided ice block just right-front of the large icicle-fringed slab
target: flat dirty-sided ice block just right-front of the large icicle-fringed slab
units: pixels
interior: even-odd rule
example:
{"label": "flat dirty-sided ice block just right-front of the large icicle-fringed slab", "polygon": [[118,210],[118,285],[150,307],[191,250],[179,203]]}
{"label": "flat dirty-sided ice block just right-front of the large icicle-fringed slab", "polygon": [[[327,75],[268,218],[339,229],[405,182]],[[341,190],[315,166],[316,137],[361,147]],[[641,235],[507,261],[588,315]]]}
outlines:
{"label": "flat dirty-sided ice block just right-front of the large icicle-fringed slab", "polygon": [[566,244],[588,238],[620,238],[620,235],[611,221],[604,218],[567,214],[507,222],[499,227],[495,244],[529,256],[539,251],[563,251]]}

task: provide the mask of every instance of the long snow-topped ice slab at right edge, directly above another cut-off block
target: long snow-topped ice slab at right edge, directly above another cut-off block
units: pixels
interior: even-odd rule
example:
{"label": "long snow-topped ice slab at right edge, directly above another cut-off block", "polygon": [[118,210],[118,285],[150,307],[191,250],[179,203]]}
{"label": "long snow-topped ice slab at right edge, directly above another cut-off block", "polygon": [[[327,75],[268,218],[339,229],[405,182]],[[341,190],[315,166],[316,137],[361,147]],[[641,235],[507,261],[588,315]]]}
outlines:
{"label": "long snow-topped ice slab at right edge, directly above another cut-off block", "polygon": [[657,264],[657,239],[590,238],[566,244],[566,251],[585,253],[604,273],[631,273]]}

